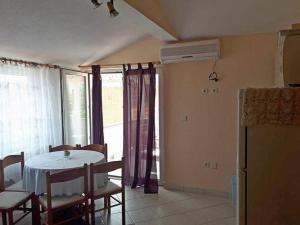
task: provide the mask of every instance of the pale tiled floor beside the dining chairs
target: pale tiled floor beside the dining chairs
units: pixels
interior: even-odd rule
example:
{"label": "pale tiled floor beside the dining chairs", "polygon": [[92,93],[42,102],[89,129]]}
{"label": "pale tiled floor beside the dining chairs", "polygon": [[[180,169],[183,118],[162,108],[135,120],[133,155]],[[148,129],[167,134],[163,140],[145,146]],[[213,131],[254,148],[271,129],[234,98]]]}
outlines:
{"label": "pale tiled floor beside the dining chairs", "polygon": [[[157,195],[145,195],[143,189],[126,189],[128,225],[236,225],[235,214],[231,202],[221,197],[164,188],[160,188]],[[121,225],[120,207],[114,207],[110,216],[100,213],[97,216],[99,225]],[[31,224],[30,218],[20,223],[28,224]]]}

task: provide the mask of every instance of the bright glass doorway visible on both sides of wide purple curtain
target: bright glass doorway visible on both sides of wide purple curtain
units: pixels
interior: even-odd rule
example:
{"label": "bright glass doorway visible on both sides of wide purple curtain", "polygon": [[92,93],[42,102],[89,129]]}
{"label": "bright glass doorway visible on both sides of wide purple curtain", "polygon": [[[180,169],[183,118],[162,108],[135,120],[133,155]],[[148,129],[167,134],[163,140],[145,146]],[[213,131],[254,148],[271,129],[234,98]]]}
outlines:
{"label": "bright glass doorway visible on both sides of wide purple curtain", "polygon": [[[155,147],[158,178],[160,176],[159,75],[156,75]],[[123,78],[122,72],[102,73],[102,106],[104,140],[108,145],[108,161],[123,156]],[[120,171],[111,175],[120,176]]]}

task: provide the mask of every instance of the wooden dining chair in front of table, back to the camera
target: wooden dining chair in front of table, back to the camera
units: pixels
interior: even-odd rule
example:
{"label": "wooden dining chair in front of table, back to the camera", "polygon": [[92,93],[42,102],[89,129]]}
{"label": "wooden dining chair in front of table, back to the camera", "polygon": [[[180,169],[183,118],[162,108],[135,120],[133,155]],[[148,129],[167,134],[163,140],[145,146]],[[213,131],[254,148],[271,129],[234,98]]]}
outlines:
{"label": "wooden dining chair in front of table, back to the camera", "polygon": [[[67,182],[79,177],[84,178],[83,194],[57,197],[52,196],[51,184]],[[83,216],[85,217],[86,223],[89,224],[88,169],[86,164],[83,168],[66,170],[55,174],[47,172],[46,182],[47,195],[41,196],[39,202],[42,209],[47,212],[47,225],[68,223]],[[79,212],[76,213],[76,216],[64,219],[63,221],[54,221],[54,213],[76,206],[79,207]]]}

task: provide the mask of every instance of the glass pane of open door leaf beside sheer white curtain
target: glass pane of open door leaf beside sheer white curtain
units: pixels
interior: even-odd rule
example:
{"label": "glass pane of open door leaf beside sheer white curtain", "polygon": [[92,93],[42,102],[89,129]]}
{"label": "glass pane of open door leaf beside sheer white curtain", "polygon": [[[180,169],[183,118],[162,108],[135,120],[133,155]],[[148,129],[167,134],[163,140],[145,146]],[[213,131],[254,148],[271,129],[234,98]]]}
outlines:
{"label": "glass pane of open door leaf beside sheer white curtain", "polygon": [[87,76],[64,75],[65,144],[88,144]]}

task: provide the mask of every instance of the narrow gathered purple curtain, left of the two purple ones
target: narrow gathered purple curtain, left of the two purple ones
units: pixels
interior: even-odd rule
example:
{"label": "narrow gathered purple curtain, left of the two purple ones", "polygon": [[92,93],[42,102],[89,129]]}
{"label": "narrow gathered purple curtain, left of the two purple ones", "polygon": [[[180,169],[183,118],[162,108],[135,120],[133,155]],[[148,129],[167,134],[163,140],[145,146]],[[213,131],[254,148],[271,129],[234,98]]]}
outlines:
{"label": "narrow gathered purple curtain, left of the two purple ones", "polygon": [[93,87],[92,87],[92,133],[94,144],[104,144],[103,135],[103,114],[102,114],[102,81],[100,66],[92,66]]}

